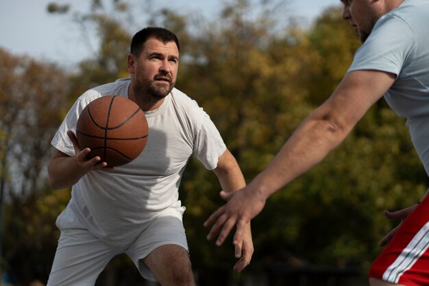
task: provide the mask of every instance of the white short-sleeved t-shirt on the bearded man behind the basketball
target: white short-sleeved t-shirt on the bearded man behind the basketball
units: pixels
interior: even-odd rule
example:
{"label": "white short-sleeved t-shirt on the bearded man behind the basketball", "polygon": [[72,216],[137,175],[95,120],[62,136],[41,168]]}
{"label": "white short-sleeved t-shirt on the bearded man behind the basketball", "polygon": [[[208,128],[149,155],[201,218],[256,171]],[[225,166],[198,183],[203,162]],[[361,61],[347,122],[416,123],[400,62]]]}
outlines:
{"label": "white short-sleeved t-shirt on the bearded man behind the basketball", "polygon": [[[103,95],[127,97],[130,79],[86,91],[77,99],[51,144],[73,156],[67,130],[75,132],[80,112]],[[157,215],[182,219],[178,189],[193,154],[207,169],[215,169],[225,143],[210,117],[193,99],[173,89],[162,105],[145,112],[149,136],[143,152],[113,171],[90,171],[72,189],[68,207],[99,239],[117,246],[134,241]]]}

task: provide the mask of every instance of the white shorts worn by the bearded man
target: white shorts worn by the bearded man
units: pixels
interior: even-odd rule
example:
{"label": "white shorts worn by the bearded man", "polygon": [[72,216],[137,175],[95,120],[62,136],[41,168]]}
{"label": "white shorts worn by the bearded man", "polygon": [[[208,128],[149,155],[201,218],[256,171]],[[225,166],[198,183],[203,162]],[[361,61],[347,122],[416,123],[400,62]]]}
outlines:
{"label": "white shorts worn by the bearded man", "polygon": [[64,224],[57,225],[61,235],[47,286],[93,286],[108,262],[121,253],[132,259],[144,278],[156,281],[140,259],[166,244],[175,244],[188,250],[183,223],[171,216],[156,217],[127,248],[112,246],[94,237],[77,219],[67,222],[67,227]]}

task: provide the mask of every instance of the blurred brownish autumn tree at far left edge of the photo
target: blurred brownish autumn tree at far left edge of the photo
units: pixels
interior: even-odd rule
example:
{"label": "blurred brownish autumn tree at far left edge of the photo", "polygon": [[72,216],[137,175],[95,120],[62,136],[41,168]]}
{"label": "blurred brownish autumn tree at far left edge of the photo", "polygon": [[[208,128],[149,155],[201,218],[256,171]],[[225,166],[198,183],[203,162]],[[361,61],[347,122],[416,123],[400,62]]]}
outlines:
{"label": "blurred brownish autumn tree at far left edge of the photo", "polygon": [[[23,275],[25,263],[21,259],[38,264],[45,255],[40,247],[43,239],[36,237],[54,235],[53,222],[49,230],[40,233],[41,225],[33,224],[29,217],[39,215],[35,204],[47,188],[45,166],[52,154],[49,145],[62,119],[60,111],[66,106],[68,87],[66,75],[52,64],[12,56],[0,49],[0,204],[7,204],[1,213],[1,219],[7,218],[1,229],[1,257],[5,259],[3,266],[23,281],[32,276]],[[38,243],[38,252],[26,248],[29,241]],[[38,257],[32,256],[36,253]]]}

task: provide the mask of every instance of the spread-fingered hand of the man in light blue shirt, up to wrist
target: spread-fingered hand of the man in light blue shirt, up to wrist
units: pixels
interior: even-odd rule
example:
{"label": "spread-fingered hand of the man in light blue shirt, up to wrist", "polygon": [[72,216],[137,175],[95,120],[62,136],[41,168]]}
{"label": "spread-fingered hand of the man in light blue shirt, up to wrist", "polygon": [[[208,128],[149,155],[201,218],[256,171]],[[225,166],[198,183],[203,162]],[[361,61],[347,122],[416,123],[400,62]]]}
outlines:
{"label": "spread-fingered hand of the man in light blue shirt, up to wrist", "polygon": [[262,198],[256,191],[253,191],[249,186],[234,193],[226,193],[221,191],[221,197],[228,200],[228,203],[221,206],[215,213],[204,222],[204,226],[212,228],[208,233],[207,239],[211,240],[219,234],[216,245],[221,246],[223,241],[236,225],[236,233],[234,235],[234,246],[243,241],[245,228],[249,224],[250,219],[253,219],[262,211],[265,206],[266,198]]}

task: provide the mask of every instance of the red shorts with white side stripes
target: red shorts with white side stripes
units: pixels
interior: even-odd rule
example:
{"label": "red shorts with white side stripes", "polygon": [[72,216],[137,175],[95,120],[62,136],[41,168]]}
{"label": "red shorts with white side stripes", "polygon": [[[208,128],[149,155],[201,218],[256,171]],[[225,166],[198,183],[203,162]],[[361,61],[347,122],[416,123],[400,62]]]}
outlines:
{"label": "red shorts with white side stripes", "polygon": [[429,285],[428,198],[402,222],[371,265],[369,277],[406,286]]}

